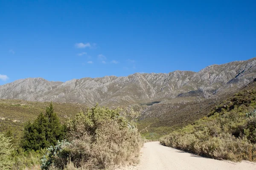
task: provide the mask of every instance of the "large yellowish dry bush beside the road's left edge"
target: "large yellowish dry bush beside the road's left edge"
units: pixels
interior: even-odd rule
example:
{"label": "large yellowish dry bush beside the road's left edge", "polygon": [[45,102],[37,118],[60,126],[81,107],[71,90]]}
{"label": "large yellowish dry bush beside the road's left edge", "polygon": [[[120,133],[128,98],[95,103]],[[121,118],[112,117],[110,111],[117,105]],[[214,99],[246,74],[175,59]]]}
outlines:
{"label": "large yellowish dry bush beside the road's left edge", "polygon": [[105,169],[136,163],[143,145],[135,124],[138,116],[131,108],[111,110],[97,105],[78,113],[66,123],[70,144],[55,158],[55,167]]}

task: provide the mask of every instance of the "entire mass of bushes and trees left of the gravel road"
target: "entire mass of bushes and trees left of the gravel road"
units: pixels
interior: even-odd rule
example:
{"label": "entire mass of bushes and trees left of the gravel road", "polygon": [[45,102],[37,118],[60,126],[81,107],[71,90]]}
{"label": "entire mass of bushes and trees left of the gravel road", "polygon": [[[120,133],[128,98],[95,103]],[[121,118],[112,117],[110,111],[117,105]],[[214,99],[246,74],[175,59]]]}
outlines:
{"label": "entire mass of bushes and trees left of the gravel road", "polygon": [[26,123],[21,139],[14,140],[10,130],[0,133],[0,169],[105,169],[136,163],[143,144],[138,116],[132,108],[96,105],[61,125],[50,103],[45,114]]}

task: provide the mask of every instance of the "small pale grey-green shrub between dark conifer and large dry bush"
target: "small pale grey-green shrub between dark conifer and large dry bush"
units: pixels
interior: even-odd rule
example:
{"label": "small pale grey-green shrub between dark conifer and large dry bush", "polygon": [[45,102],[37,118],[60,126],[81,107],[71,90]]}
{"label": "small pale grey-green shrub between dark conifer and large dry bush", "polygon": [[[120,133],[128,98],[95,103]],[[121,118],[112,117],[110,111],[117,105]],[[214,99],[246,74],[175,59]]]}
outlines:
{"label": "small pale grey-green shrub between dark conifer and large dry bush", "polygon": [[41,168],[43,170],[48,170],[50,166],[54,165],[54,160],[57,156],[61,155],[61,151],[63,147],[70,144],[67,140],[62,140],[61,142],[57,142],[55,146],[50,146],[47,149],[42,150],[44,155],[41,159]]}

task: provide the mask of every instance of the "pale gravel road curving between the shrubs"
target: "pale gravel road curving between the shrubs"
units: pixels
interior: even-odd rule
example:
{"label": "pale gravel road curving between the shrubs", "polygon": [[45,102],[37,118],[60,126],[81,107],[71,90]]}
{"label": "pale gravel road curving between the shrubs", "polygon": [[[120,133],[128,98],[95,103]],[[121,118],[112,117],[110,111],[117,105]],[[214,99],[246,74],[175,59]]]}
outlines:
{"label": "pale gravel road curving between the shrubs", "polygon": [[140,153],[140,164],[122,170],[256,170],[256,164],[208,159],[165,147],[159,142],[147,142]]}

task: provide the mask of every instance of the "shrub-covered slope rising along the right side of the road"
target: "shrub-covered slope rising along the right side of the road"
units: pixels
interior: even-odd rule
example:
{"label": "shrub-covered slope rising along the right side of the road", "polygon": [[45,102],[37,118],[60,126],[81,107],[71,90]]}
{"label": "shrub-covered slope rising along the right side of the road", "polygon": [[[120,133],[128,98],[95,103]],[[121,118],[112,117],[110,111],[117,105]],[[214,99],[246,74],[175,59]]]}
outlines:
{"label": "shrub-covered slope rising along the right side of the road", "polygon": [[242,91],[161,142],[216,159],[256,161],[255,108],[256,91]]}

